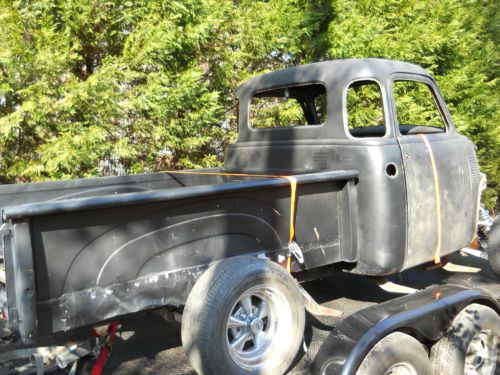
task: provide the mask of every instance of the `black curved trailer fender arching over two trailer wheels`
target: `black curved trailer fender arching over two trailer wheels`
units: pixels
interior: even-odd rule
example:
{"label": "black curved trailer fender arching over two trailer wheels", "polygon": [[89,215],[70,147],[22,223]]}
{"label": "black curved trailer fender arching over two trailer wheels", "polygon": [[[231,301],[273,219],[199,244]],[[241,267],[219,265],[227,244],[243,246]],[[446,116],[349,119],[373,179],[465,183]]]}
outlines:
{"label": "black curved trailer fender arching over two trailer wheels", "polygon": [[421,341],[437,341],[456,314],[471,303],[500,311],[498,302],[486,292],[456,285],[434,285],[361,310],[342,320],[325,340],[312,373],[354,375],[373,346],[395,331]]}

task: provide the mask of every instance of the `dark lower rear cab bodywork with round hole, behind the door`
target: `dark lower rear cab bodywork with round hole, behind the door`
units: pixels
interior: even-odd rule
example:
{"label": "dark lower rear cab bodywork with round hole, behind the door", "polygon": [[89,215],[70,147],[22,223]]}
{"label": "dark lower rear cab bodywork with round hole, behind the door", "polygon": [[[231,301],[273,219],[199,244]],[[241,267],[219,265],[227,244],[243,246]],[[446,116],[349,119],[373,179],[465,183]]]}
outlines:
{"label": "dark lower rear cab bodywork with round hole, behind the door", "polygon": [[[385,173],[390,162],[400,171],[395,177]],[[406,221],[405,180],[395,139],[332,140],[322,144],[237,143],[228,150],[225,167],[236,170],[238,165],[244,166],[245,172],[265,173],[267,169],[258,168],[263,165],[278,174],[357,166],[359,178],[350,191],[351,216],[355,220],[352,252],[344,254],[342,260],[355,261],[355,272],[371,275],[390,274],[403,268],[406,233],[401,223]]]}

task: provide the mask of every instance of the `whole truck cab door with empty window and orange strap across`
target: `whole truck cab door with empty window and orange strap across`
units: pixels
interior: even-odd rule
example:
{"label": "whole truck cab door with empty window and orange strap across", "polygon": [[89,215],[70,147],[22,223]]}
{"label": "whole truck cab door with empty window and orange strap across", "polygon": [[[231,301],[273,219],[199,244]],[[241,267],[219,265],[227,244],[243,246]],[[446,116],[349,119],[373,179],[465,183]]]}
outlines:
{"label": "whole truck cab door with empty window and orange strap across", "polygon": [[438,260],[473,236],[473,145],[457,134],[430,78],[392,79],[396,133],[406,184],[405,268]]}

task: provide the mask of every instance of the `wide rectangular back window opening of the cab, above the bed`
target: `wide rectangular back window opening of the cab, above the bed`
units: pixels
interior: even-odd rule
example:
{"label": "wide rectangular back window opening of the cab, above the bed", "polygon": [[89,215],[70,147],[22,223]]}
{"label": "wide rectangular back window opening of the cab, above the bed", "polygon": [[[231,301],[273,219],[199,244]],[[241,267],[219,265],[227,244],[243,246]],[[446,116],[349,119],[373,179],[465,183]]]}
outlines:
{"label": "wide rectangular back window opening of the cab, above the bed", "polygon": [[320,126],[327,119],[326,87],[321,83],[257,92],[250,102],[250,126],[276,129]]}

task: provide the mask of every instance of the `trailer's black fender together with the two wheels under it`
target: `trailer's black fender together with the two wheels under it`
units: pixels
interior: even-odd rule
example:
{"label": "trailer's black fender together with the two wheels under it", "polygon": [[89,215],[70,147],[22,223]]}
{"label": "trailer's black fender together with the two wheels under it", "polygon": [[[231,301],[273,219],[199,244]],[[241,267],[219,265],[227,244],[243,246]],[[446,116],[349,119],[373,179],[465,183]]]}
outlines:
{"label": "trailer's black fender together with the two wheels under it", "polygon": [[311,372],[494,375],[499,297],[444,284],[368,307],[336,325]]}

